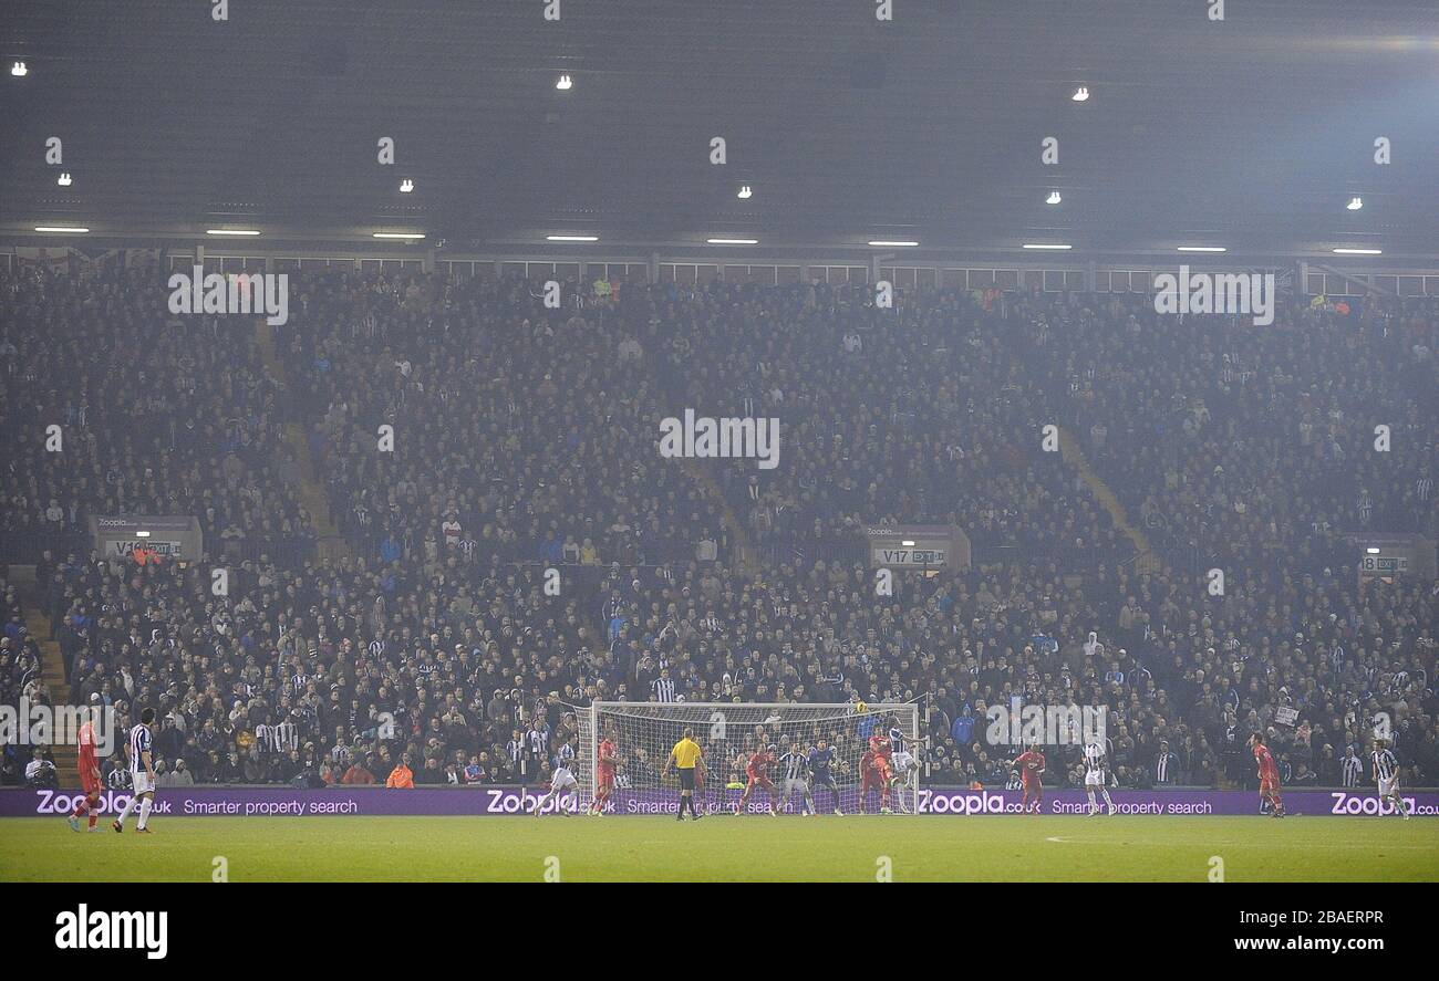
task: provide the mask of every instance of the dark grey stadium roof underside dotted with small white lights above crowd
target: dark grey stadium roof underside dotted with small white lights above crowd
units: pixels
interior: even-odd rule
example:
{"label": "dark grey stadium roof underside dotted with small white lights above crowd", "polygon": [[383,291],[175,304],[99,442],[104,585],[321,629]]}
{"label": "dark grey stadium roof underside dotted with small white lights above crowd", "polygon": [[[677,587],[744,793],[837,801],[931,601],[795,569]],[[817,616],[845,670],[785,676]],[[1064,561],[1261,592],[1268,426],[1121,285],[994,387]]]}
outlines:
{"label": "dark grey stadium roof underside dotted with small white lights above crowd", "polygon": [[0,233],[1439,255],[1435,0],[6,6]]}

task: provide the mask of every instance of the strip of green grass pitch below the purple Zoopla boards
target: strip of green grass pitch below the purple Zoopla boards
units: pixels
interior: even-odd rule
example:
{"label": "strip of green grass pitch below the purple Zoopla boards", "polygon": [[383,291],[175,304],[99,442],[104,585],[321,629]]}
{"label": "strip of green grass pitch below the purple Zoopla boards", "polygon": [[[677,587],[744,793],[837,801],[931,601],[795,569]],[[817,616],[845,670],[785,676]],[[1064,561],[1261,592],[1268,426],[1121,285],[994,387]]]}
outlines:
{"label": "strip of green grass pitch below the purple Zoopla boards", "polygon": [[0,818],[0,880],[1439,882],[1439,820],[1291,817],[173,817],[154,834]]}

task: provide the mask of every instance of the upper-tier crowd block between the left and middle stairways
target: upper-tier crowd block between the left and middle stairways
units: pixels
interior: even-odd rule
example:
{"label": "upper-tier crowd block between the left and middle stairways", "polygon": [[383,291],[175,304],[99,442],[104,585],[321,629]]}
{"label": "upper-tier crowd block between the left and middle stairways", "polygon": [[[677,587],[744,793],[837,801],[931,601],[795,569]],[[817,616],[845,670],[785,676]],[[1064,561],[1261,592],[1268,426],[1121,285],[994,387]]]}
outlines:
{"label": "upper-tier crowd block between the left and middle stairways", "polygon": [[[597,565],[724,534],[653,452],[653,383],[610,306],[550,311],[524,280],[341,276],[317,283],[286,347],[332,511],[367,555],[463,545],[468,561]],[[394,449],[380,453],[386,424]]]}

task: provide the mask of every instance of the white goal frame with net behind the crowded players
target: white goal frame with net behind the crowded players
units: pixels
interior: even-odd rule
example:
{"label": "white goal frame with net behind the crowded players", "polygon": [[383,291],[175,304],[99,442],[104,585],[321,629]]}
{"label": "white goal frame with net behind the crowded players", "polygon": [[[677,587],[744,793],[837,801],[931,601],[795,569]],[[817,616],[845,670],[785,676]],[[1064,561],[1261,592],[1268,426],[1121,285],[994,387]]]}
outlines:
{"label": "white goal frame with net behind the crowded players", "polygon": [[[620,767],[613,807],[607,813],[675,813],[679,807],[679,780],[673,772],[663,775],[665,761],[685,728],[692,728],[705,758],[704,788],[695,791],[695,803],[702,813],[735,808],[743,793],[744,761],[755,749],[774,747],[776,759],[787,749],[807,755],[820,739],[835,751],[830,772],[839,785],[840,800],[835,801],[822,785],[813,787],[817,810],[832,813],[837,803],[845,814],[858,813],[861,806],[875,813],[879,810],[879,793],[869,793],[865,801],[859,798],[859,759],[869,748],[869,735],[888,732],[898,719],[904,739],[896,749],[912,754],[915,765],[891,787],[891,807],[896,813],[918,811],[920,705],[876,703],[865,709],[861,712],[852,702],[594,702],[576,713],[580,724],[576,778],[580,781],[581,807],[594,797],[599,745],[609,736],[614,741]],[[787,787],[786,777],[783,762],[770,768],[770,778],[784,798],[783,811],[799,814],[804,798],[796,785]],[[768,794],[755,788],[745,810],[758,814],[768,808]]]}

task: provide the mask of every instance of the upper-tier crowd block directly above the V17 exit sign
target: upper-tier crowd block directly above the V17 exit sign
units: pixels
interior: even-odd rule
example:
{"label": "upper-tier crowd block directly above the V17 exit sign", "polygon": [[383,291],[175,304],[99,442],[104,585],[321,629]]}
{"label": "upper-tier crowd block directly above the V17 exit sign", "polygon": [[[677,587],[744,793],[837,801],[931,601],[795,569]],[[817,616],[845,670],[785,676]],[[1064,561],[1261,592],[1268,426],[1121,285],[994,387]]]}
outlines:
{"label": "upper-tier crowd block directly above the V17 exit sign", "polygon": [[1003,296],[901,293],[879,309],[861,285],[720,283],[650,308],[671,404],[780,419],[777,469],[724,467],[757,541],[810,554],[862,542],[866,525],[957,524],[984,551],[1073,571],[1132,551],[1076,470],[1042,450],[1053,409],[999,329]]}

